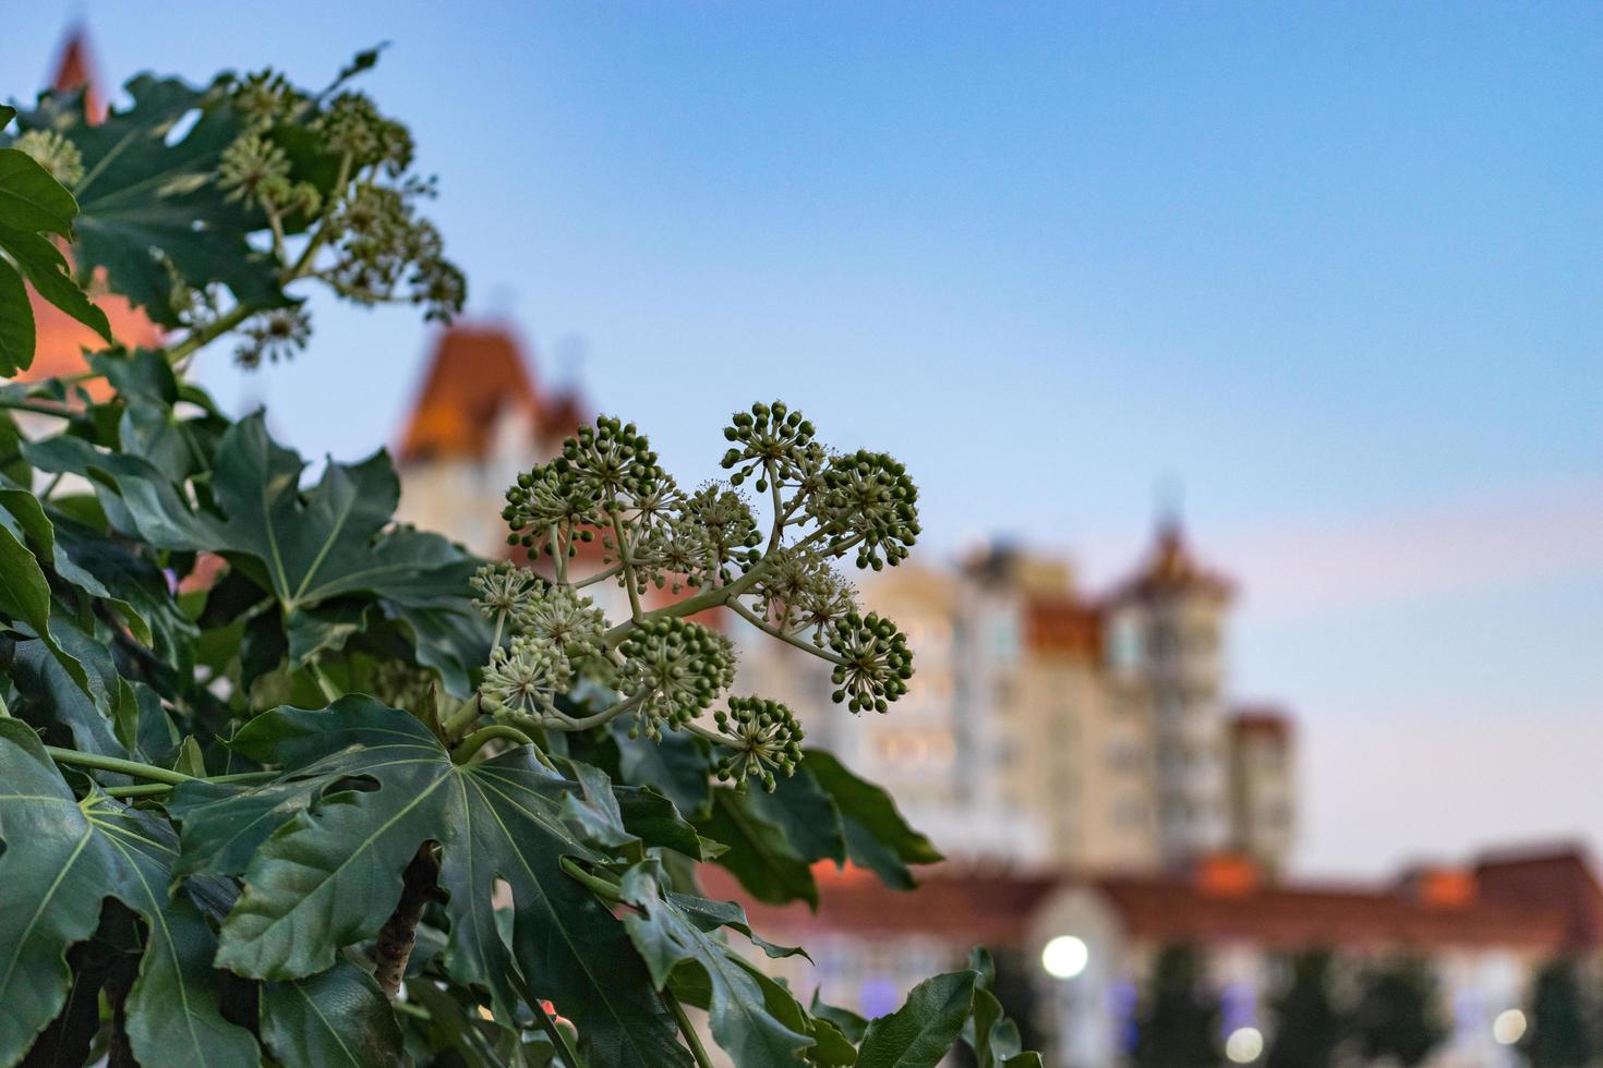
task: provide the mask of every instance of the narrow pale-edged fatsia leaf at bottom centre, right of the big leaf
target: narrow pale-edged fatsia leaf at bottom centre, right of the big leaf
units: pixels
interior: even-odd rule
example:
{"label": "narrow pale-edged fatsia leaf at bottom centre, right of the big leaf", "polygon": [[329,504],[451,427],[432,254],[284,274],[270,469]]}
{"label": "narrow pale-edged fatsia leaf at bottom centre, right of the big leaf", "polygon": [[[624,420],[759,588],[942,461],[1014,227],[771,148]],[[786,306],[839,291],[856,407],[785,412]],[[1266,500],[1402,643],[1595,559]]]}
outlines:
{"label": "narrow pale-edged fatsia leaf at bottom centre, right of the big leaf", "polygon": [[660,879],[660,866],[648,860],[624,873],[619,885],[624,901],[636,909],[624,917],[624,925],[657,988],[665,988],[680,967],[699,969],[710,986],[713,1039],[736,1068],[805,1063],[802,1050],[813,1046],[813,1039],[792,1031],[768,1010],[763,986],[750,966],[710,933],[718,921],[681,908],[664,895]]}

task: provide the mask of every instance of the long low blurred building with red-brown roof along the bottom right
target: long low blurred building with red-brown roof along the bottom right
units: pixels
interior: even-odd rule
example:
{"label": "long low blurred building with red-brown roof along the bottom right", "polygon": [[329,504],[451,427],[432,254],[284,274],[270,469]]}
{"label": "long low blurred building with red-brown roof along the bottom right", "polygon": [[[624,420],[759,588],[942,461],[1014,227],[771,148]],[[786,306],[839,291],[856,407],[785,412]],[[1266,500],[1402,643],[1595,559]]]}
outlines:
{"label": "long low blurred building with red-brown roof along the bottom right", "polygon": [[[1603,945],[1603,889],[1569,847],[1492,853],[1380,884],[1266,882],[1241,857],[1186,873],[1106,876],[946,866],[912,897],[851,868],[821,866],[818,876],[816,914],[749,905],[765,937],[808,946],[816,966],[771,962],[797,990],[818,988],[830,1004],[875,1015],[986,945],[997,959],[997,996],[1020,1018],[1026,1046],[1060,1068],[1122,1063],[1153,962],[1178,945],[1201,954],[1223,1006],[1220,1038],[1250,1030],[1247,1049],[1274,1039],[1270,1002],[1292,954],[1334,951],[1339,999],[1366,966],[1417,954],[1439,983],[1448,1028],[1427,1063],[1512,1068],[1521,1062],[1505,1042],[1524,1026],[1536,969]],[[733,893],[725,882],[713,892]]]}

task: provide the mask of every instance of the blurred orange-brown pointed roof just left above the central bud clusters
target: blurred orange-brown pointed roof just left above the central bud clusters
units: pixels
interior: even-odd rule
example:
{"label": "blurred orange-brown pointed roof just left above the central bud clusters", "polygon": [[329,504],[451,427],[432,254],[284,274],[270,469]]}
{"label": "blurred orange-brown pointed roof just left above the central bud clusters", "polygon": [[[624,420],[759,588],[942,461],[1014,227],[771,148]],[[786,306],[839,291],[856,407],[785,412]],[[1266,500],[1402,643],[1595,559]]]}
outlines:
{"label": "blurred orange-brown pointed roof just left above the central bud clusters", "polygon": [[483,458],[495,421],[508,408],[529,415],[548,450],[585,418],[572,394],[545,397],[518,339],[503,327],[457,323],[439,335],[423,387],[401,436],[401,463]]}

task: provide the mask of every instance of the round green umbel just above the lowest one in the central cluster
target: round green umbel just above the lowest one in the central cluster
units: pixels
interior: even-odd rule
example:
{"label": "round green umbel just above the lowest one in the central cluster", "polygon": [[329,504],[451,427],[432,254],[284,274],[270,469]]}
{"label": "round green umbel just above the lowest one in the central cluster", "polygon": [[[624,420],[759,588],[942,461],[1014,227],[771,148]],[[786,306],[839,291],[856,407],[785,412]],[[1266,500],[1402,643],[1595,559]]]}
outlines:
{"label": "round green umbel just above the lowest one in the central cluster", "polygon": [[649,620],[619,645],[617,685],[638,700],[630,737],[662,737],[662,724],[696,719],[734,682],[734,648],[721,634],[684,620]]}

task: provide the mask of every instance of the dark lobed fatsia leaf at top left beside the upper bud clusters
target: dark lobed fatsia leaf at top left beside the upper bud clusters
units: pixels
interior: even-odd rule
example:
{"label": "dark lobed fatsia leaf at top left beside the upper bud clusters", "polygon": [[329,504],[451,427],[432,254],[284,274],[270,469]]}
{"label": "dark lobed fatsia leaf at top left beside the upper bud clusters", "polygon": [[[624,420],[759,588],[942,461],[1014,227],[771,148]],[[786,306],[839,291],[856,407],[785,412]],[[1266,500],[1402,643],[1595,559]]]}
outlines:
{"label": "dark lobed fatsia leaf at top left beside the upper bud clusters", "polygon": [[[181,319],[168,264],[194,288],[223,283],[242,303],[284,304],[273,263],[245,240],[260,221],[216,184],[223,149],[239,135],[226,98],[151,75],[125,88],[133,106],[101,123],[88,122],[82,94],[48,98],[19,118],[24,128],[56,130],[83,157],[72,191],[79,272],[104,267],[111,288],[164,327]],[[168,144],[191,114],[194,125]]]}

